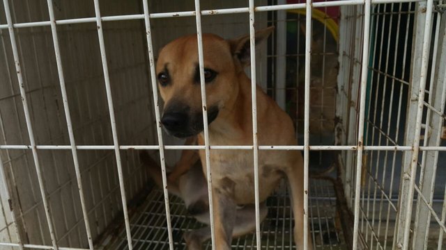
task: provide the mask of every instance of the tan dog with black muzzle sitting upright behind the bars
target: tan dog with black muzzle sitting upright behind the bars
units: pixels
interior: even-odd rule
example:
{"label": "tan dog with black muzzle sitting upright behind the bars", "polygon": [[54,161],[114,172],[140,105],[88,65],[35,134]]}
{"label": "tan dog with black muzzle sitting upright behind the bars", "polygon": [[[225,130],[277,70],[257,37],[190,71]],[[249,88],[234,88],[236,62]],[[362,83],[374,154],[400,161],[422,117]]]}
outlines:
{"label": "tan dog with black muzzle sitting upright behind the bars", "polygon": [[[256,44],[266,40],[272,31],[270,27],[257,32]],[[210,144],[252,144],[251,81],[244,72],[250,60],[249,36],[224,40],[217,35],[204,34],[203,55]],[[160,51],[156,72],[164,100],[161,121],[164,128],[178,138],[197,135],[198,143],[204,144],[197,35],[184,36],[167,44]],[[295,145],[290,117],[261,88],[256,88],[256,94],[259,144]],[[203,150],[199,151],[199,156],[201,163],[205,163]],[[231,249],[234,228],[238,224],[237,207],[254,204],[253,162],[253,153],[249,150],[210,151],[217,249]],[[260,201],[265,201],[280,179],[286,177],[291,190],[298,249],[303,249],[302,162],[299,151],[259,151]],[[206,172],[204,165],[203,171]],[[185,235],[188,249],[201,249],[201,243],[208,238],[209,228]]]}

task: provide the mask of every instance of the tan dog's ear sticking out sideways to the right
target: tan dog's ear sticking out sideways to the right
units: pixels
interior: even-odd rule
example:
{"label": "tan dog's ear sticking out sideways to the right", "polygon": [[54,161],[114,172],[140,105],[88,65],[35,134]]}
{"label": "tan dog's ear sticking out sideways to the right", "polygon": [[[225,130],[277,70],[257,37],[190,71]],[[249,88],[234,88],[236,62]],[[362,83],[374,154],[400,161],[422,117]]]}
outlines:
{"label": "tan dog's ear sticking out sideways to the right", "polygon": [[[269,26],[261,31],[257,31],[255,34],[256,46],[267,40],[268,36],[274,31],[274,28],[274,26]],[[249,35],[244,35],[236,40],[229,40],[229,45],[231,46],[232,55],[240,61],[242,67],[246,67],[251,63]]]}

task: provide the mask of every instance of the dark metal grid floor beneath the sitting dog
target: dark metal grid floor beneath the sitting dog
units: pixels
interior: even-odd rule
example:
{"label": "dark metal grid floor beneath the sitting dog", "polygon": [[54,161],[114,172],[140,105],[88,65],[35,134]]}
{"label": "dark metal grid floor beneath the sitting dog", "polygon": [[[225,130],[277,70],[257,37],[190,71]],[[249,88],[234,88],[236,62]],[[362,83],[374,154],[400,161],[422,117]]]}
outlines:
{"label": "dark metal grid floor beneath the sitting dog", "polygon": [[[309,224],[315,249],[346,249],[336,215],[334,187],[330,181],[310,179]],[[185,249],[183,233],[203,224],[187,215],[183,201],[171,195],[172,236],[174,249]],[[296,249],[293,246],[291,203],[286,192],[276,192],[268,198],[268,216],[261,223],[261,249]],[[138,213],[130,217],[134,249],[169,249],[164,197],[162,190],[153,189]],[[211,249],[210,241],[204,249]],[[128,249],[125,228],[105,249]],[[256,249],[255,232],[234,239],[232,249]]]}

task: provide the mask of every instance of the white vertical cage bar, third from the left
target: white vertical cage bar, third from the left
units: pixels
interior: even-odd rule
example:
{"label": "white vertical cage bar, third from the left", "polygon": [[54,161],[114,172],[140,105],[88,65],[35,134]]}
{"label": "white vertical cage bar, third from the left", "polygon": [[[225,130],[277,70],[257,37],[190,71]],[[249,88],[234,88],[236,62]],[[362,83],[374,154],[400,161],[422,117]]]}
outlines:
{"label": "white vertical cage bar, third from the left", "polygon": [[130,222],[128,219],[127,199],[125,198],[123,167],[121,165],[121,154],[119,153],[118,133],[116,132],[116,120],[114,117],[112,88],[110,87],[109,69],[107,65],[107,54],[105,53],[104,33],[102,31],[102,20],[100,16],[99,0],[94,0],[94,6],[95,6],[96,25],[98,28],[100,54],[102,59],[102,69],[104,71],[105,90],[107,92],[107,102],[109,106],[110,124],[112,125],[112,136],[114,142],[114,152],[116,156],[116,167],[118,168],[119,188],[121,190],[121,201],[123,203],[125,231],[127,232],[128,248],[129,250],[132,250],[133,249],[132,235],[130,233]]}

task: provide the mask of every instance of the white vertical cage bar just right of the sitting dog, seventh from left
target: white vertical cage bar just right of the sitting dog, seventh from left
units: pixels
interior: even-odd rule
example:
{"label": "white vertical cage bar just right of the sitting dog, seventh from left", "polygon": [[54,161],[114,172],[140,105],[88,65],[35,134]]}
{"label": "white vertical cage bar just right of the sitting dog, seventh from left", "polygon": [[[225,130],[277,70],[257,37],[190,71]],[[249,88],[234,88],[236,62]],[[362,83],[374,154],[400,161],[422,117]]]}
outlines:
{"label": "white vertical cage bar just right of the sitting dog, seventh from left", "polygon": [[[308,249],[309,83],[312,59],[312,0],[305,4],[305,99],[304,99],[304,249]],[[295,215],[296,216],[296,215]]]}

